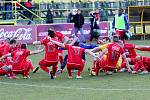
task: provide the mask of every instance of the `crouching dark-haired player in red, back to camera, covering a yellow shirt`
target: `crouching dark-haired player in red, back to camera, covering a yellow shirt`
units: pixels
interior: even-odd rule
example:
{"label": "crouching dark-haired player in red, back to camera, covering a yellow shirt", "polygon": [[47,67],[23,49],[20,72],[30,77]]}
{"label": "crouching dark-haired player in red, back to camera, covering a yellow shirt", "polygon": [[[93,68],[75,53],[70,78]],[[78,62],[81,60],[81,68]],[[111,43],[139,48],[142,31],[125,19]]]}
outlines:
{"label": "crouching dark-haired player in red, back to camera, covering a yellow shirt", "polygon": [[[95,65],[97,76],[100,69],[110,72],[118,69],[116,66],[120,56],[122,56],[122,58],[126,62],[127,68],[130,69],[129,62],[126,58],[123,47],[119,42],[119,37],[113,36],[113,42],[108,44],[103,52],[100,53],[99,59],[97,60],[98,63]],[[96,50],[92,50],[92,52],[95,53]],[[105,54],[107,54],[107,56]]]}

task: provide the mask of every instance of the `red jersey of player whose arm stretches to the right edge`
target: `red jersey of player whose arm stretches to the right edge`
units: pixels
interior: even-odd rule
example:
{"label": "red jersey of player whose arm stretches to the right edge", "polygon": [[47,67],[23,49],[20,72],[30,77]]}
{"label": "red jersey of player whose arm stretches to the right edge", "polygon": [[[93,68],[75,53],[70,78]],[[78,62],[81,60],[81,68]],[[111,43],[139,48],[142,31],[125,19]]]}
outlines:
{"label": "red jersey of player whose arm stretches to the right edge", "polygon": [[129,57],[129,58],[136,57],[135,44],[125,43],[124,50],[129,52],[129,55],[127,57]]}

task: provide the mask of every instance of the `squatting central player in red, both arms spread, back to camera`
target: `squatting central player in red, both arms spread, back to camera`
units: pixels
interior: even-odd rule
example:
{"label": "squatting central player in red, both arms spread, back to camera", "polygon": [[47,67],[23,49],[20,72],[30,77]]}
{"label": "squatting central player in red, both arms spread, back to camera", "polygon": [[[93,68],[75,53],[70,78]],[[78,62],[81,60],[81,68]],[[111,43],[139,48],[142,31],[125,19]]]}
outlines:
{"label": "squatting central player in red, both arms spread, back to camera", "polygon": [[63,44],[63,43],[54,41],[52,39],[50,39],[50,41],[68,50],[68,59],[67,59],[68,78],[72,78],[72,73],[71,73],[72,69],[78,70],[76,78],[82,78],[81,72],[83,71],[84,66],[85,66],[85,61],[82,59],[83,53],[88,53],[93,56],[95,56],[95,54],[90,52],[87,49],[78,47],[77,44],[76,46],[72,46],[69,44]]}

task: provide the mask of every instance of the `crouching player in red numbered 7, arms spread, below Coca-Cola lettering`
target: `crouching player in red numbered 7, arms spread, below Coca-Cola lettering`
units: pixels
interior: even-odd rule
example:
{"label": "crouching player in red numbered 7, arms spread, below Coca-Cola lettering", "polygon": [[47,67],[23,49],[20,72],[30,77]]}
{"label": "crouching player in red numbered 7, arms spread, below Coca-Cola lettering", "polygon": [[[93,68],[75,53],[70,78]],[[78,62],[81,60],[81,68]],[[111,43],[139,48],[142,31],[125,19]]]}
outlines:
{"label": "crouching player in red numbered 7, arms spread, below Coca-Cola lettering", "polygon": [[31,65],[31,62],[27,60],[27,57],[29,55],[37,54],[42,51],[43,51],[43,49],[35,50],[35,51],[27,50],[27,45],[22,44],[20,49],[17,49],[11,53],[3,55],[0,58],[0,60],[3,60],[7,57],[12,57],[12,62],[10,62],[10,64],[12,65],[11,70],[14,73],[22,74],[24,78],[30,78],[29,72],[32,69],[32,65]]}

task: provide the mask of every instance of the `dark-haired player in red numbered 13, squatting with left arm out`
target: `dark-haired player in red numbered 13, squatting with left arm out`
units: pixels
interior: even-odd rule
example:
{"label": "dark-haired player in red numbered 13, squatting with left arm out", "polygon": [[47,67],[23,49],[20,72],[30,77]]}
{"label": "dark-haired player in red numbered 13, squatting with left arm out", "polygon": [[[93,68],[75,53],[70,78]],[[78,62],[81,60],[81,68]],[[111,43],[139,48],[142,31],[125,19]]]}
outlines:
{"label": "dark-haired player in red numbered 13, squatting with left arm out", "polygon": [[[45,46],[45,57],[39,62],[40,68],[51,75],[56,77],[56,71],[57,71],[57,64],[58,64],[58,46],[50,41],[50,37],[58,41],[57,37],[54,37],[55,34],[53,31],[48,32],[48,36],[46,36],[43,40],[41,41],[35,41],[33,44],[40,44]],[[48,67],[52,67],[52,73],[49,70]]]}

